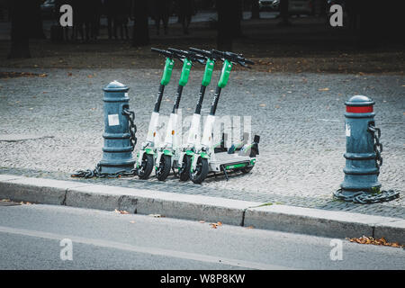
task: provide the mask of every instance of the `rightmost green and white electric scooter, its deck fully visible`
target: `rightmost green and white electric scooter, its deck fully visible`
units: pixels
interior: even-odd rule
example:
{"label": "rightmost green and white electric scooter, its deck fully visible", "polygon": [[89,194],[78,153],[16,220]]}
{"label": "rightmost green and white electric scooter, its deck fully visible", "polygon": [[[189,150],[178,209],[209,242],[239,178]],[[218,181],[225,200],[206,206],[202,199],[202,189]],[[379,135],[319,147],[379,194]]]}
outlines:
{"label": "rightmost green and white electric scooter, its deck fully visible", "polygon": [[[223,172],[228,180],[229,170],[240,170],[243,173],[249,172],[256,164],[256,156],[258,155],[259,136],[251,144],[247,144],[247,139],[242,140],[242,145],[232,145],[231,148],[224,148],[224,143],[221,142],[221,148],[216,148],[213,145],[213,126],[215,122],[215,112],[220,100],[220,92],[227,85],[229,80],[230,70],[233,64],[239,64],[242,67],[248,67],[247,64],[253,65],[254,62],[243,58],[239,54],[231,52],[222,52],[212,49],[214,57],[220,58],[223,61],[223,67],[220,72],[220,80],[211,103],[211,112],[208,115],[204,130],[202,133],[201,146],[196,150],[192,157],[190,178],[195,184],[201,184],[208,173]],[[225,139],[222,139],[224,141]],[[239,148],[241,146],[241,148]],[[220,152],[216,153],[215,150]],[[238,153],[236,153],[238,151]]]}

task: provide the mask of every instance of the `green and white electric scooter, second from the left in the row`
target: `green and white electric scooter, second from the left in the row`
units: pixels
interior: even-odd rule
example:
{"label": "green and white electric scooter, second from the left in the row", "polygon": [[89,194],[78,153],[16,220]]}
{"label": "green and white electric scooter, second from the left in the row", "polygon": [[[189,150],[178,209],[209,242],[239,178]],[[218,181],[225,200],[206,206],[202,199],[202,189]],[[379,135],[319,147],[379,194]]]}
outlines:
{"label": "green and white electric scooter, second from the left in the row", "polygon": [[190,76],[190,71],[193,66],[193,61],[197,61],[200,64],[204,63],[205,58],[201,55],[193,53],[191,51],[183,51],[178,49],[167,49],[168,51],[175,54],[177,58],[182,58],[183,69],[180,76],[180,80],[177,87],[177,94],[175,95],[175,104],[173,106],[173,111],[170,113],[169,121],[166,128],[165,140],[157,148],[157,157],[155,160],[155,169],[157,179],[159,181],[166,180],[166,177],[170,174],[172,166],[177,166],[178,153],[181,146],[179,133],[176,131],[177,128],[177,110],[179,108],[180,100],[183,93],[183,88],[188,82],[188,77]]}

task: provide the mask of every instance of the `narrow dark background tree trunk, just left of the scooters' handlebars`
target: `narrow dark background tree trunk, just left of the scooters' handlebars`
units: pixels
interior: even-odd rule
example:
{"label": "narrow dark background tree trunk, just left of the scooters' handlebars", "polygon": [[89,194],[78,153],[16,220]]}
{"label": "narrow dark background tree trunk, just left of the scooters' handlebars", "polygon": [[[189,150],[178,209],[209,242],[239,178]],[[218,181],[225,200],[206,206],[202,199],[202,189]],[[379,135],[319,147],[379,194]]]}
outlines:
{"label": "narrow dark background tree trunk, just left of the scooters' handlebars", "polygon": [[133,23],[132,46],[146,46],[150,43],[148,1],[135,0],[133,4],[133,14],[135,19]]}

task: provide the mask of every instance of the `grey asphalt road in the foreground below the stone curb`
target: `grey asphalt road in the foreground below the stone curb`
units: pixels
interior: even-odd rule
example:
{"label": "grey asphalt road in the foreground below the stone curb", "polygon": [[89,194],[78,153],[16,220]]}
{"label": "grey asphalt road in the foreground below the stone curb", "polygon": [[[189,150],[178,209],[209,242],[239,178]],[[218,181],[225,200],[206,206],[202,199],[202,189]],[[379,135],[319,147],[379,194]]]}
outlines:
{"label": "grey asphalt road in the foreground below the stone curb", "polygon": [[49,205],[0,205],[0,242],[0,269],[405,267],[401,248]]}

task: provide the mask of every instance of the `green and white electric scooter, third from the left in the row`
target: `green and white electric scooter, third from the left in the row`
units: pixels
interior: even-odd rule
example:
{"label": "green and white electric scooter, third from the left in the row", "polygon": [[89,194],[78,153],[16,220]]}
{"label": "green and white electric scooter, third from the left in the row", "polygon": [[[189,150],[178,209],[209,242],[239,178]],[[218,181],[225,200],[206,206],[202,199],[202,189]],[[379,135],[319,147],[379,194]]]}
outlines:
{"label": "green and white electric scooter, third from the left in the row", "polygon": [[202,77],[202,84],[200,88],[200,93],[198,96],[198,103],[195,106],[195,111],[193,113],[193,119],[190,125],[190,130],[188,131],[188,138],[186,143],[183,145],[179,152],[179,157],[175,164],[177,164],[178,175],[180,181],[187,181],[190,179],[190,167],[191,159],[194,155],[195,148],[200,145],[201,133],[200,133],[200,121],[201,121],[201,109],[202,101],[204,99],[205,90],[211,83],[212,71],[215,65],[215,58],[211,51],[203,49],[190,48],[190,51],[202,55],[205,60],[205,70]]}

